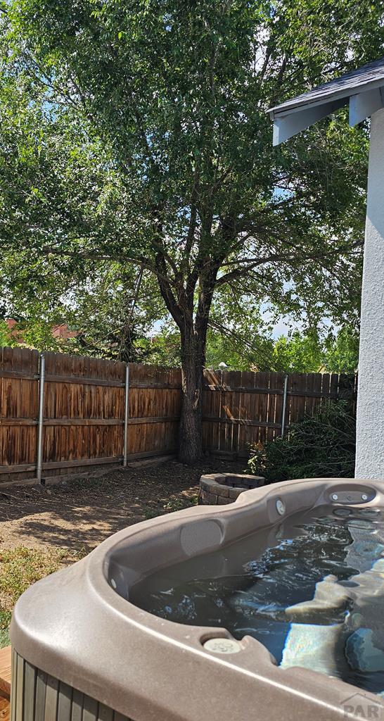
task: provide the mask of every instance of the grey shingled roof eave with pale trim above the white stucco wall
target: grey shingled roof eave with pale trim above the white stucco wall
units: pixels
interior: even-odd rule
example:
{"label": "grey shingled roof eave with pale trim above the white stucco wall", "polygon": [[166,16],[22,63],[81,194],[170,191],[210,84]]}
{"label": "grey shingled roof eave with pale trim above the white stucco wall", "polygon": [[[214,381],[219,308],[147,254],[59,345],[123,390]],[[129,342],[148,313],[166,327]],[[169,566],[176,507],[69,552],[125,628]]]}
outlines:
{"label": "grey shingled roof eave with pale trim above the white stucco wall", "polygon": [[274,145],[348,102],[350,125],[360,123],[384,106],[384,58],[269,108],[267,112],[274,120]]}

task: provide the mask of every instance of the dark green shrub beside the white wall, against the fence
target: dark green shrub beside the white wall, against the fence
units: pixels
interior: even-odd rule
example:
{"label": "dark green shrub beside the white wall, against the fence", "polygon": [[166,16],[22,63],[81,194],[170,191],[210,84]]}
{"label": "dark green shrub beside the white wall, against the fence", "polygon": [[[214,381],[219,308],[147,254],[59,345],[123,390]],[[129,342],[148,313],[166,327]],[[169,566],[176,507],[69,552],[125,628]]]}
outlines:
{"label": "dark green shrub beside the white wall, against the fence", "polygon": [[288,435],[251,448],[249,467],[269,483],[291,478],[353,477],[356,422],[338,401],[290,426]]}

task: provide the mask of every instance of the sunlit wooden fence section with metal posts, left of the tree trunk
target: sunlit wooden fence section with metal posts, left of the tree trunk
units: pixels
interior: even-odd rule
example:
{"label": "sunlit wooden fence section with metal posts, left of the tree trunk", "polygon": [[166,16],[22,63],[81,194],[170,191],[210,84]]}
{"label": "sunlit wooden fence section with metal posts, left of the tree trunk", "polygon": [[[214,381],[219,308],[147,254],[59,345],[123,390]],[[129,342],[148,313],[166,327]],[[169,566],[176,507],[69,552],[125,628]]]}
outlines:
{"label": "sunlit wooden fence section with metal posts, left of the tree trunk", "polygon": [[[0,349],[0,483],[177,451],[179,370]],[[126,394],[126,382],[129,392]],[[125,413],[125,397],[128,398]],[[40,401],[40,403],[39,403]],[[39,416],[41,446],[39,446]]]}

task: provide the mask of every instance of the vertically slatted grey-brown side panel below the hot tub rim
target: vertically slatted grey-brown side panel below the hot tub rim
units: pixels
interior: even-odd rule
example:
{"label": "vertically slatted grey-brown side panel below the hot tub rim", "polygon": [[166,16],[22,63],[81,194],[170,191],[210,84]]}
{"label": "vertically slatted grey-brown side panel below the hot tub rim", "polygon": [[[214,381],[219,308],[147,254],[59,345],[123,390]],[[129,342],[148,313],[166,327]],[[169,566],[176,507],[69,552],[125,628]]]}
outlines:
{"label": "vertically slatted grey-brown side panel below the hot tub rim", "polygon": [[133,721],[12,650],[11,721]]}

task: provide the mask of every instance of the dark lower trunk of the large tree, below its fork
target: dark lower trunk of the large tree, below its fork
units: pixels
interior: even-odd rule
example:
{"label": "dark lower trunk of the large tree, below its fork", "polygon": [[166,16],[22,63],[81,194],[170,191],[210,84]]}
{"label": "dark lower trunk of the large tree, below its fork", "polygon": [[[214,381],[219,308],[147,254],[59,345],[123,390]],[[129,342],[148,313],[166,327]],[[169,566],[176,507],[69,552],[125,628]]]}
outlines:
{"label": "dark lower trunk of the large tree, below its fork", "polygon": [[202,371],[204,346],[194,329],[182,333],[182,415],[179,461],[189,465],[202,457]]}

